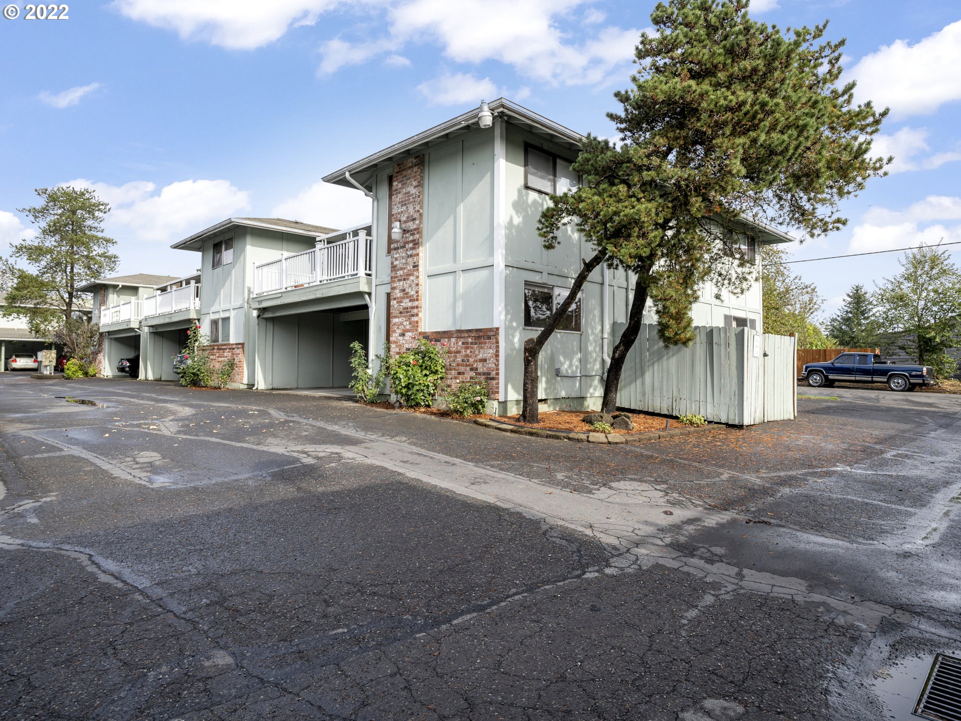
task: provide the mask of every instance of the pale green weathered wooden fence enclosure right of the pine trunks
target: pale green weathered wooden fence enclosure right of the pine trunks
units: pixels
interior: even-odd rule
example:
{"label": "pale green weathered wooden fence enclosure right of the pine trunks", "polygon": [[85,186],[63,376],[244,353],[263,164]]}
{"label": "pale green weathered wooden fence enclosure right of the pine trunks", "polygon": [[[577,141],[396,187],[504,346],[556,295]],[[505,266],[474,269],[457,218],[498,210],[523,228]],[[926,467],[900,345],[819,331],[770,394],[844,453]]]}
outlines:
{"label": "pale green weathered wooden fence enclosure right of the pine trunks", "polygon": [[618,406],[751,426],[797,413],[795,339],[749,328],[699,327],[689,346],[666,348],[645,323],[628,354]]}

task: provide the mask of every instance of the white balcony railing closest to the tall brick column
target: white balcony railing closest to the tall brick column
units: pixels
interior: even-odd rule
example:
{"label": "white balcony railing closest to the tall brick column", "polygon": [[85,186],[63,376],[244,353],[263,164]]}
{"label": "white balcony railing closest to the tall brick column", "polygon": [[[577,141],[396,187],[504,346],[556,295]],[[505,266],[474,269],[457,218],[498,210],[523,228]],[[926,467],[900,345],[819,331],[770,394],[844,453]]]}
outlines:
{"label": "white balcony railing closest to the tall brick column", "polygon": [[370,275],[373,252],[373,238],[359,230],[345,240],[262,262],[254,266],[254,294]]}

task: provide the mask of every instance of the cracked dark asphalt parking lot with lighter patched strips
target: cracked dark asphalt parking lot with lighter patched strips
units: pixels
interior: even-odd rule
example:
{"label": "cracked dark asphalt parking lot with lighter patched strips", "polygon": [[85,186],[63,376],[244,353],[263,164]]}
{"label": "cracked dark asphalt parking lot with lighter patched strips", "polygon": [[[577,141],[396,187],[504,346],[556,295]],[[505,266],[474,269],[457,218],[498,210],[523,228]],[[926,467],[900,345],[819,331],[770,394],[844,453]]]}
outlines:
{"label": "cracked dark asphalt parking lot with lighter patched strips", "polygon": [[801,394],[620,447],[0,374],[0,718],[909,718],[961,396]]}

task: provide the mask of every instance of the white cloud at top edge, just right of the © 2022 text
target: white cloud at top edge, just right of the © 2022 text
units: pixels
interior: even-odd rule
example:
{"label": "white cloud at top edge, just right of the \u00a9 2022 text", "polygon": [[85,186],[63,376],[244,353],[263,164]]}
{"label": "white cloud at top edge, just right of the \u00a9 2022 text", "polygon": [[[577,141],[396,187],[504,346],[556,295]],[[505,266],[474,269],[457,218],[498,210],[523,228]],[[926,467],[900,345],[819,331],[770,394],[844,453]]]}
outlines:
{"label": "white cloud at top edge, just right of the \u00a9 2022 text", "polygon": [[127,17],[234,50],[253,50],[313,25],[336,0],[114,0]]}

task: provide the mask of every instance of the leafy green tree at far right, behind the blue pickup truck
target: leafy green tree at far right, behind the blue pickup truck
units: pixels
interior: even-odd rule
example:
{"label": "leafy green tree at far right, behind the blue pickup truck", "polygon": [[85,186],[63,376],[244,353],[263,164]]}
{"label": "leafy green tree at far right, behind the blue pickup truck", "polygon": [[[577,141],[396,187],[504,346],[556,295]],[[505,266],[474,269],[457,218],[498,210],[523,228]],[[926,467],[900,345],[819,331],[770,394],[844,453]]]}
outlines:
{"label": "leafy green tree at far right, behind the blue pickup truck", "polygon": [[900,273],[875,293],[881,326],[894,334],[895,347],[934,365],[940,378],[951,376],[957,362],[946,351],[961,331],[961,270],[937,247],[908,251],[898,262]]}

